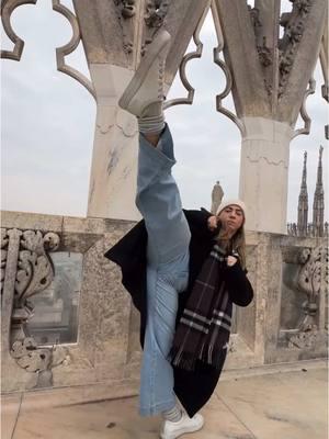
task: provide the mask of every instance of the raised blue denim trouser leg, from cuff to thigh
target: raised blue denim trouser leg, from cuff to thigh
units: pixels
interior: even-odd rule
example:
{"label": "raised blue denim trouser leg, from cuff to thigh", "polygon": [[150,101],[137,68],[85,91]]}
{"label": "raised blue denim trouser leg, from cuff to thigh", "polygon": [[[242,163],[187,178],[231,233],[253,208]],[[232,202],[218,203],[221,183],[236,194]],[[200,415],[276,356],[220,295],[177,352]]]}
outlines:
{"label": "raised blue denim trouser leg, from cuff to thigh", "polygon": [[148,232],[148,261],[161,266],[188,251],[191,233],[177,183],[171,175],[175,164],[168,126],[154,148],[140,135],[136,205]]}

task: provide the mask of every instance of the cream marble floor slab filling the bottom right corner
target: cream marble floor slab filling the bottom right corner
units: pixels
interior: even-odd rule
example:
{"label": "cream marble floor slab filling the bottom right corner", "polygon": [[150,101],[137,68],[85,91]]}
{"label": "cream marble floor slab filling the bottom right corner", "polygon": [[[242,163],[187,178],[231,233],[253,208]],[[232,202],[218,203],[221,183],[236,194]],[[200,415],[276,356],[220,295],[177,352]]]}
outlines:
{"label": "cream marble floor slab filling the bottom right corner", "polygon": [[328,436],[326,369],[219,383],[216,394],[258,439]]}

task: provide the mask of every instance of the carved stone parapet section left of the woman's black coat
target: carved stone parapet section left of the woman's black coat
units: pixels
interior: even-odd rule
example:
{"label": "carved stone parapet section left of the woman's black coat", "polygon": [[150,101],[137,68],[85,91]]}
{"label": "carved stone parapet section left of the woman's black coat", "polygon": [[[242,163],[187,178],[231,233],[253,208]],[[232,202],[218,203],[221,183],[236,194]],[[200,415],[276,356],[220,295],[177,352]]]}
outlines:
{"label": "carved stone parapet section left of the woman's black coat", "polygon": [[[114,228],[113,224],[2,213],[3,392],[80,386],[86,382],[97,385],[105,381],[113,387],[114,383],[132,383],[136,369],[132,363],[139,361],[139,352],[134,353],[134,337],[128,334],[132,307],[121,288],[120,273],[113,267],[109,269],[103,257],[104,248],[132,223],[120,222]],[[72,259],[80,261],[76,263],[78,270],[68,264]],[[67,304],[69,294],[76,302],[73,309],[78,309],[78,327],[76,336],[66,341],[63,334],[71,328],[65,331],[64,326],[70,324],[67,320],[72,313],[68,316],[67,306],[59,305],[63,301]],[[46,312],[38,314],[39,309]],[[43,334],[47,315],[53,318]],[[134,389],[136,392],[133,383],[129,392]],[[107,391],[115,393],[115,389]]]}

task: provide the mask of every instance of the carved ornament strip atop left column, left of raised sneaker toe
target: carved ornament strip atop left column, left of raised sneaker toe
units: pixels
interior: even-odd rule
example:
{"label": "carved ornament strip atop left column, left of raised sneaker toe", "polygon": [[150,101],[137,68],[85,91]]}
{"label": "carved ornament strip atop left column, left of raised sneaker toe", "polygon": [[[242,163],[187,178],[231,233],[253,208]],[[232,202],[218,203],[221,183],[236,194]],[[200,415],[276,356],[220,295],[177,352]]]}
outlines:
{"label": "carved ornament strip atop left column, left of raised sneaker toe", "polygon": [[116,15],[123,32],[123,49],[131,54],[134,48],[133,19],[136,15],[136,0],[113,0]]}

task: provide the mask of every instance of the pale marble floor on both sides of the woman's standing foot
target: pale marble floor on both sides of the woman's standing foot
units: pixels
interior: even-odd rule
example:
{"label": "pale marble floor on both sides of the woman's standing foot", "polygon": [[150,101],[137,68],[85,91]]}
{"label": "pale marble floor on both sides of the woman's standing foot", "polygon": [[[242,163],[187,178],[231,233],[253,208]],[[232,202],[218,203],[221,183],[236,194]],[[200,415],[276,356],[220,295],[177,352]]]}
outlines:
{"label": "pale marble floor on both sides of the woman's standing foot", "polygon": [[[140,418],[137,397],[45,408],[21,395],[2,399],[2,439],[156,439],[161,419]],[[186,439],[326,439],[328,372],[318,368],[234,375],[202,410]]]}

